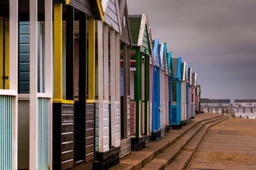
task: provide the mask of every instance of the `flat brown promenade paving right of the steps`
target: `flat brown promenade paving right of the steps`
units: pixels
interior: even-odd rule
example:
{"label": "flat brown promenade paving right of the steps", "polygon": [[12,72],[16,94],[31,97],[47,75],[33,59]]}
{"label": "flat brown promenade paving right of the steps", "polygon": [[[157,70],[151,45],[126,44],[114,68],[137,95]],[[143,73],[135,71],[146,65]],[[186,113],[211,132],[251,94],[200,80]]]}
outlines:
{"label": "flat brown promenade paving right of the steps", "polygon": [[229,118],[211,127],[187,169],[256,169],[256,120]]}

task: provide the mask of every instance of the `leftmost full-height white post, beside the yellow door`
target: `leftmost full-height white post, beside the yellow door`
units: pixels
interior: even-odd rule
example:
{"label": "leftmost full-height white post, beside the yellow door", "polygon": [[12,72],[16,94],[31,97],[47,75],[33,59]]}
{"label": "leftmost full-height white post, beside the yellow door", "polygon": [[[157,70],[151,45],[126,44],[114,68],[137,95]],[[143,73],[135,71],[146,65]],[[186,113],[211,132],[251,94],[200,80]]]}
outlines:
{"label": "leftmost full-height white post, beside the yellow door", "polygon": [[13,93],[13,144],[12,144],[12,168],[18,169],[18,0],[10,0],[10,90]]}

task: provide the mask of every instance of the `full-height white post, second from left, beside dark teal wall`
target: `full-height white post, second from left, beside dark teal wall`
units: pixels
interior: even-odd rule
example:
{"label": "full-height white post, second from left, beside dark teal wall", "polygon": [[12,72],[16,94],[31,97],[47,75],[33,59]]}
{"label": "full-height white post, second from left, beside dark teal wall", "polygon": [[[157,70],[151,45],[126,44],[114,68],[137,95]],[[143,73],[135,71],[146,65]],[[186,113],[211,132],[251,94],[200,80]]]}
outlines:
{"label": "full-height white post, second from left, beside dark teal wall", "polygon": [[37,169],[38,127],[37,127],[37,1],[29,1],[29,169]]}

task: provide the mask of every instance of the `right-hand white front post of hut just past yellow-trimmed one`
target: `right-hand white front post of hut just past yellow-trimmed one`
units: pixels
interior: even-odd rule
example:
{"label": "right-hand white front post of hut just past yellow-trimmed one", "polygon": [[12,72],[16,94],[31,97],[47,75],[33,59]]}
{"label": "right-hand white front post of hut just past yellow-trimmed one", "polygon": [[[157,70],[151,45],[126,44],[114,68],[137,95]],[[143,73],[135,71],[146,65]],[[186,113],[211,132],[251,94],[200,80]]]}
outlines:
{"label": "right-hand white front post of hut just past yellow-trimmed one", "polygon": [[116,146],[116,74],[115,74],[115,30],[110,31],[110,88],[111,88],[111,145]]}

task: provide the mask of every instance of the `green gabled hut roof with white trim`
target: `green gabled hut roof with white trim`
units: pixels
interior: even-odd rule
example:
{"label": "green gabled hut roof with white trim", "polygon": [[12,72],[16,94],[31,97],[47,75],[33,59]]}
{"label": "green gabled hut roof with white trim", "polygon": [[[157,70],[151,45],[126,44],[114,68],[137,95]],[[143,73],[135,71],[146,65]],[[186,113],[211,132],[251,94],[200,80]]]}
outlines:
{"label": "green gabled hut roof with white trim", "polygon": [[132,32],[132,46],[140,47],[141,52],[150,56],[152,53],[152,41],[149,36],[147,14],[129,15],[129,19]]}

